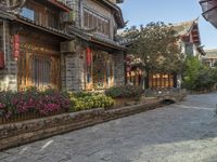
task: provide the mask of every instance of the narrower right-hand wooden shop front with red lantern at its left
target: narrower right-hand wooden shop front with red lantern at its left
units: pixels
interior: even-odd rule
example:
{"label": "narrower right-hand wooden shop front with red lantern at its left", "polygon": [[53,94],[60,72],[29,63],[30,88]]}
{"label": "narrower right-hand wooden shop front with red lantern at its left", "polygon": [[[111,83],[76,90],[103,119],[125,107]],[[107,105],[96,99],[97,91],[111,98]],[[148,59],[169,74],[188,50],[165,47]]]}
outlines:
{"label": "narrower right-hand wooden shop front with red lantern at its left", "polygon": [[114,85],[112,54],[88,48],[86,60],[86,90],[105,90]]}

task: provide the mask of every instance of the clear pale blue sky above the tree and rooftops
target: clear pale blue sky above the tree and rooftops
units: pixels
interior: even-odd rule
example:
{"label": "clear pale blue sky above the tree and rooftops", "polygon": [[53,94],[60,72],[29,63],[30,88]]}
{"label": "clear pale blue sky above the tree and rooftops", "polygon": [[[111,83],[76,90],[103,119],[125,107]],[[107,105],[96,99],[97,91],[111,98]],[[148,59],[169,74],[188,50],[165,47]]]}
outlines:
{"label": "clear pale blue sky above the tree and rooftops", "polygon": [[199,0],[125,0],[119,5],[127,27],[150,22],[180,23],[199,18],[204,49],[217,49],[217,29],[204,19]]}

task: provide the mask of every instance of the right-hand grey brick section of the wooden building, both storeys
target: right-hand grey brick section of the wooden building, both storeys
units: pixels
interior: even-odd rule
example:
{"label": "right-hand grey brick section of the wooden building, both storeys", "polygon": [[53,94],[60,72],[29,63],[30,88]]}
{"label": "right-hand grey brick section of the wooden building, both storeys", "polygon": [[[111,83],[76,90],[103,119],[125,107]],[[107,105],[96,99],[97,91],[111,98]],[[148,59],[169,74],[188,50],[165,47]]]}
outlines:
{"label": "right-hand grey brick section of the wooden building, both storeys", "polygon": [[76,48],[75,52],[64,50],[63,75],[69,76],[62,80],[65,89],[93,91],[125,84],[126,48],[115,41],[117,30],[125,26],[122,10],[116,4],[119,2],[80,0],[72,3],[78,22],[67,28],[75,39],[65,44],[74,43]]}

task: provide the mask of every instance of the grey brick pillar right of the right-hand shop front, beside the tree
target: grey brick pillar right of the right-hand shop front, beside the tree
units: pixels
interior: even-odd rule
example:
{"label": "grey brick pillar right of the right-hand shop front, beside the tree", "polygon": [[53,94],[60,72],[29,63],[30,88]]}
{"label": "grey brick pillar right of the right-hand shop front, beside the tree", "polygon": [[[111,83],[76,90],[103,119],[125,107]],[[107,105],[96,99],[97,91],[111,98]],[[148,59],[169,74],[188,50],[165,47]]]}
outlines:
{"label": "grey brick pillar right of the right-hand shop front, beside the tree", "polygon": [[125,59],[124,53],[113,54],[114,58],[114,77],[115,77],[115,85],[125,84]]}

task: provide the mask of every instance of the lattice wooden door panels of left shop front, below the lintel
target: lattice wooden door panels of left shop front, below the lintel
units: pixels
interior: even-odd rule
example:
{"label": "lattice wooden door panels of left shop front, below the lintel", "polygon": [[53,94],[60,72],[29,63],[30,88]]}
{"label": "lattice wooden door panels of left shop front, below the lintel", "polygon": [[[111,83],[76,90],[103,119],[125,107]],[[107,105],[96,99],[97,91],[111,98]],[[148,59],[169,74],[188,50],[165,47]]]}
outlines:
{"label": "lattice wooden door panels of left shop front, below the lintel", "polygon": [[60,89],[60,58],[22,52],[18,58],[20,89],[26,86]]}

